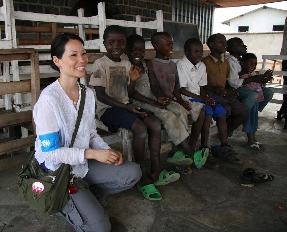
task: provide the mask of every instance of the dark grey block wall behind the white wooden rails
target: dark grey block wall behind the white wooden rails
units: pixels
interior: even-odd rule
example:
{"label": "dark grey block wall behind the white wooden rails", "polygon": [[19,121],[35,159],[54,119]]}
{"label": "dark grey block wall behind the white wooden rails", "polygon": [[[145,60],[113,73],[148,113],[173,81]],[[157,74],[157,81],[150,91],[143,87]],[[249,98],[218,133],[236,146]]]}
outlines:
{"label": "dark grey block wall behind the white wooden rails", "polygon": [[[3,6],[3,1],[0,1]],[[77,16],[77,3],[79,0],[14,0],[14,10],[74,15]],[[84,8],[85,16],[97,15],[97,2],[95,0],[80,1]],[[135,21],[135,15],[141,15],[142,22],[156,19],[156,11],[163,11],[163,18],[172,19],[172,0],[107,0],[106,17],[110,19],[121,19]],[[74,8],[74,9],[73,9]],[[16,25],[35,26],[36,22],[16,21]],[[126,28],[127,34],[135,34],[135,28]],[[151,38],[152,33],[156,30],[143,29],[143,37]]]}

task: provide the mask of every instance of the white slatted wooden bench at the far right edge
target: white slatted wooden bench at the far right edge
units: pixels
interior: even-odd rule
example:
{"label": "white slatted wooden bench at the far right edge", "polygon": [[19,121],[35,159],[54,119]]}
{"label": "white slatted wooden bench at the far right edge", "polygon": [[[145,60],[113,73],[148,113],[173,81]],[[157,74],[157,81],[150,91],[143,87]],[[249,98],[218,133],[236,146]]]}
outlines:
{"label": "white slatted wooden bench at the far right edge", "polygon": [[[259,71],[259,74],[264,74],[266,72],[265,65],[266,60],[287,60],[287,55],[262,55],[262,68]],[[287,76],[287,72],[283,71],[273,71],[273,75],[279,75],[279,76]],[[266,87],[272,89],[274,93],[278,94],[287,94],[287,86],[286,85],[278,85],[278,84],[267,84]],[[277,99],[271,99],[271,103],[278,103],[282,104],[283,100],[277,100]]]}

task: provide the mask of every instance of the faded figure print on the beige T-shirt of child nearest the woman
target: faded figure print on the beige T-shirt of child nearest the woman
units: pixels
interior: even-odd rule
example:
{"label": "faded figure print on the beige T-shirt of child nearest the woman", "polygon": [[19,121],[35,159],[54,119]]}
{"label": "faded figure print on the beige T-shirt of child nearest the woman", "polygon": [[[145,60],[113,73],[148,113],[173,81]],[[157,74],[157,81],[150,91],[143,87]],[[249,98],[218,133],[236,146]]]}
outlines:
{"label": "faded figure print on the beige T-shirt of child nearest the woman", "polygon": [[111,66],[109,78],[109,95],[122,102],[127,97],[128,76],[125,66]]}

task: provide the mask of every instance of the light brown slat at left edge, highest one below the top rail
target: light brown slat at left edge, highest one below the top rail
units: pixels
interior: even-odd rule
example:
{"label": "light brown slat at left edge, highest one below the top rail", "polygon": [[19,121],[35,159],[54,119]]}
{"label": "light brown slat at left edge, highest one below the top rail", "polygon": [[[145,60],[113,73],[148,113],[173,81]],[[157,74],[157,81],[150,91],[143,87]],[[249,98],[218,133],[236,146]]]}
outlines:
{"label": "light brown slat at left edge, highest one below the top rail", "polygon": [[3,82],[0,84],[0,95],[31,91],[30,81]]}

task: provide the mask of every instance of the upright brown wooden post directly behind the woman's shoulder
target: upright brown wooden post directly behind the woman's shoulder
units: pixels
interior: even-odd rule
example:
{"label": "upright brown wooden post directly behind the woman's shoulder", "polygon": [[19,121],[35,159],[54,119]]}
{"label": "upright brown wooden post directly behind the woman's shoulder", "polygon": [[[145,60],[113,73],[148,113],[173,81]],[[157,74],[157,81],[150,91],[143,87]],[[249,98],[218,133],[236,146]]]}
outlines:
{"label": "upright brown wooden post directly behind the woman's shoulder", "polygon": [[40,96],[40,74],[39,74],[39,54],[30,53],[31,59],[31,110],[32,110],[32,123],[33,135],[36,135],[36,125],[33,119],[33,109]]}

